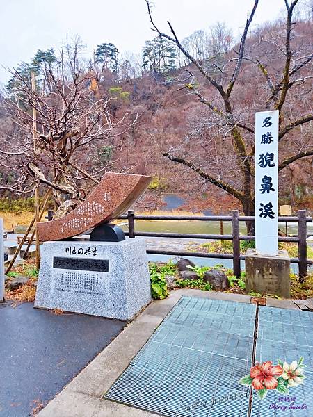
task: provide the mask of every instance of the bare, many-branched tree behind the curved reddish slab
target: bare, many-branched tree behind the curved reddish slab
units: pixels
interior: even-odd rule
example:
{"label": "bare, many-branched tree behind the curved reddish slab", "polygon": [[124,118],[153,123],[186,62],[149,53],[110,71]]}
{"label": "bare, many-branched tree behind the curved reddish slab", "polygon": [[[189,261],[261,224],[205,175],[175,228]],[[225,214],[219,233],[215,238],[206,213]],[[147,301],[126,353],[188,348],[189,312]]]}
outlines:
{"label": "bare, many-branched tree behind the curved reddish slab", "polygon": [[111,116],[110,99],[97,97],[95,74],[81,66],[78,43],[66,45],[56,65],[45,67],[45,88],[34,90],[28,78],[13,74],[19,88],[15,97],[2,100],[14,122],[1,138],[0,164],[15,172],[15,181],[0,189],[19,194],[32,192],[36,184],[51,188],[57,216],[63,215],[111,167],[110,161],[95,163],[98,149],[136,123],[136,115]]}

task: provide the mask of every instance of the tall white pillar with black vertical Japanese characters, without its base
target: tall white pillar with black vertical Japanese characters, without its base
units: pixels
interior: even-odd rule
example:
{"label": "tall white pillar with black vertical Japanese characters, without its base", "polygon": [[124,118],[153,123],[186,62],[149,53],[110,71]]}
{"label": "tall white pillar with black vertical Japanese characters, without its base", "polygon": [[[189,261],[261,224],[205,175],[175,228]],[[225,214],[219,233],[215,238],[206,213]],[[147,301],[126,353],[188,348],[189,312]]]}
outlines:
{"label": "tall white pillar with black vertical Japanese characters, without its base", "polygon": [[255,113],[255,248],[278,255],[278,110]]}

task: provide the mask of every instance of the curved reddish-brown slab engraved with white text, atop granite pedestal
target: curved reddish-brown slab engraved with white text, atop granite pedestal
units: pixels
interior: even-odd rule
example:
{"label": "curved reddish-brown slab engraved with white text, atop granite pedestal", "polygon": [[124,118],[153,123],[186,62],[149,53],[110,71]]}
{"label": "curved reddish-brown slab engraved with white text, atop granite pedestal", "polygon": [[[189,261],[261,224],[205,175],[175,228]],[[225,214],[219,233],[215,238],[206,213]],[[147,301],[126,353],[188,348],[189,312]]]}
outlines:
{"label": "curved reddish-brown slab engraved with white text, atop granite pedestal", "polygon": [[73,211],[51,222],[38,223],[43,242],[72,238],[122,215],[149,186],[151,177],[106,172],[88,198]]}

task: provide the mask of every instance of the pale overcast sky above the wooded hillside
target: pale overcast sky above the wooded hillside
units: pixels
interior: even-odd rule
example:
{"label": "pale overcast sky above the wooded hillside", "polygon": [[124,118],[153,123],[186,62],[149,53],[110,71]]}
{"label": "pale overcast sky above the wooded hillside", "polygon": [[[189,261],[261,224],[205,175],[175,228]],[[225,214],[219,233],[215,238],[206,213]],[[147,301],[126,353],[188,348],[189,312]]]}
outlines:
{"label": "pale overcast sky above the wooded hillside", "polygon": [[[154,0],[154,19],[168,30],[169,20],[179,38],[215,22],[225,22],[238,35],[253,0]],[[3,69],[29,61],[38,49],[58,50],[68,32],[79,34],[90,55],[97,44],[112,42],[123,51],[141,54],[153,38],[145,0],[0,0],[0,82],[10,74]],[[283,0],[259,0],[255,24],[284,13]]]}

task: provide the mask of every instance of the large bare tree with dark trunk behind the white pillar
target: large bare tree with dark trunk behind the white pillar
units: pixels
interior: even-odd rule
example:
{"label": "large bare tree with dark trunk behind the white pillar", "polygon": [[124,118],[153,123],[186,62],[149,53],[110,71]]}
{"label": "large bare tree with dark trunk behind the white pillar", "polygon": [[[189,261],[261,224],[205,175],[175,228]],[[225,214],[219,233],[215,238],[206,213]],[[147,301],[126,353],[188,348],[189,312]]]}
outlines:
{"label": "large bare tree with dark trunk behind the white pillar", "polygon": [[[152,5],[146,0],[152,30],[176,44],[194,68],[188,70],[188,81],[185,79],[180,88],[198,97],[204,105],[200,118],[194,119],[191,134],[193,138],[198,138],[198,142],[191,146],[187,137],[179,148],[168,149],[164,156],[189,167],[207,183],[236,197],[246,215],[255,213],[255,111],[280,111],[280,172],[300,158],[313,155],[308,129],[313,120],[310,111],[312,87],[308,82],[312,79],[312,73],[308,71],[313,54],[308,47],[310,41],[303,38],[305,43],[301,44],[298,39],[293,19],[298,1],[289,4],[284,0],[287,18],[283,38],[280,33],[282,27],[278,24],[273,36],[260,40],[259,37],[248,38],[258,5],[258,0],[255,0],[238,47],[230,59],[218,67],[216,76],[189,54],[170,22],[170,35],[159,30],[152,19]],[[271,47],[270,54],[266,56],[268,45]],[[266,57],[266,62],[262,62],[262,56]],[[199,83],[201,77],[204,79],[202,85]],[[303,95],[300,102],[295,101],[299,94]],[[249,222],[247,227],[248,233],[253,234],[253,225]]]}

